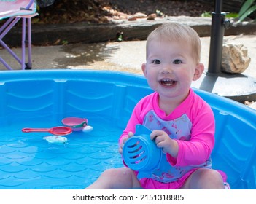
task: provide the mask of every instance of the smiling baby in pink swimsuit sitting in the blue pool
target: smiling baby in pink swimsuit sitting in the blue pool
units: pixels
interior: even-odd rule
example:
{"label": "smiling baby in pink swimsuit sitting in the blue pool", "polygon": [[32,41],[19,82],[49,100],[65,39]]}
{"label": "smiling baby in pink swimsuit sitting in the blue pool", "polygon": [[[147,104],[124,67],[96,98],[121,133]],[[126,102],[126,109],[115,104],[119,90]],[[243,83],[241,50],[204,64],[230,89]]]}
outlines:
{"label": "smiling baby in pink swimsuit sitting in the blue pool", "polygon": [[163,24],[148,36],[146,53],[141,68],[154,93],[133,109],[119,152],[141,124],[152,130],[165,164],[141,179],[127,166],[109,169],[88,189],[224,189],[225,173],[211,162],[214,114],[190,87],[204,69],[198,34],[190,26]]}

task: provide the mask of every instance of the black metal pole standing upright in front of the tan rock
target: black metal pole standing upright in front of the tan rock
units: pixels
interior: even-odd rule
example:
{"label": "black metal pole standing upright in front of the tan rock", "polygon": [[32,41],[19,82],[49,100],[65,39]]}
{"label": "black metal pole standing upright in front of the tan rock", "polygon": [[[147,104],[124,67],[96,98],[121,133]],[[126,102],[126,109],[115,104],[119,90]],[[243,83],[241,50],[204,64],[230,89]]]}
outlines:
{"label": "black metal pole standing upright in front of the tan rock", "polygon": [[222,44],[225,31],[225,13],[222,10],[222,0],[215,0],[212,12],[211,41],[209,66],[207,74],[219,75],[222,61]]}

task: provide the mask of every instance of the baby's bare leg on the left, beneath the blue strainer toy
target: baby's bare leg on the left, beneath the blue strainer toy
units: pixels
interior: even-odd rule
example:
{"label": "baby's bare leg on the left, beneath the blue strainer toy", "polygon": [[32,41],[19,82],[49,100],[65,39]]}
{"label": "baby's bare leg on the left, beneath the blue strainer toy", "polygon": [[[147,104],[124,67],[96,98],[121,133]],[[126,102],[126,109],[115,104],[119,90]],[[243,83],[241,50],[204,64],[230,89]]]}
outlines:
{"label": "baby's bare leg on the left, beneath the blue strainer toy", "polygon": [[141,185],[130,168],[105,170],[98,179],[86,189],[139,189]]}

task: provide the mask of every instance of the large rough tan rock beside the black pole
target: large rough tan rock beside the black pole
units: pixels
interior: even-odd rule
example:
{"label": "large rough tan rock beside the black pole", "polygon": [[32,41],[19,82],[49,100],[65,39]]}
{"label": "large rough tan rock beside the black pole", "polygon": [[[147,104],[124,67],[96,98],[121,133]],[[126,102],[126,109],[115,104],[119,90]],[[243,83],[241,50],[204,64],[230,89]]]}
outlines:
{"label": "large rough tan rock beside the black pole", "polygon": [[241,74],[251,62],[247,47],[243,44],[223,44],[222,47],[222,71]]}

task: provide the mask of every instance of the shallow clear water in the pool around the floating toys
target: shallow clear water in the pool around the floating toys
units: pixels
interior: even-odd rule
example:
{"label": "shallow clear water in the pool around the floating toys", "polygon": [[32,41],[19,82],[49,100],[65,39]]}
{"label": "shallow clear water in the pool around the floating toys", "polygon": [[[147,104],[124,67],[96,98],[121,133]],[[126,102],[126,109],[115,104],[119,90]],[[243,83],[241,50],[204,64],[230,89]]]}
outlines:
{"label": "shallow clear water in the pool around the floating toys", "polygon": [[[50,144],[50,133],[23,133],[23,127],[61,125],[56,116],[2,118],[0,137],[0,189],[83,189],[106,168],[123,165],[117,141],[122,129],[112,119],[88,118],[93,131],[73,132],[67,144]],[[54,118],[54,119],[51,119]]]}

